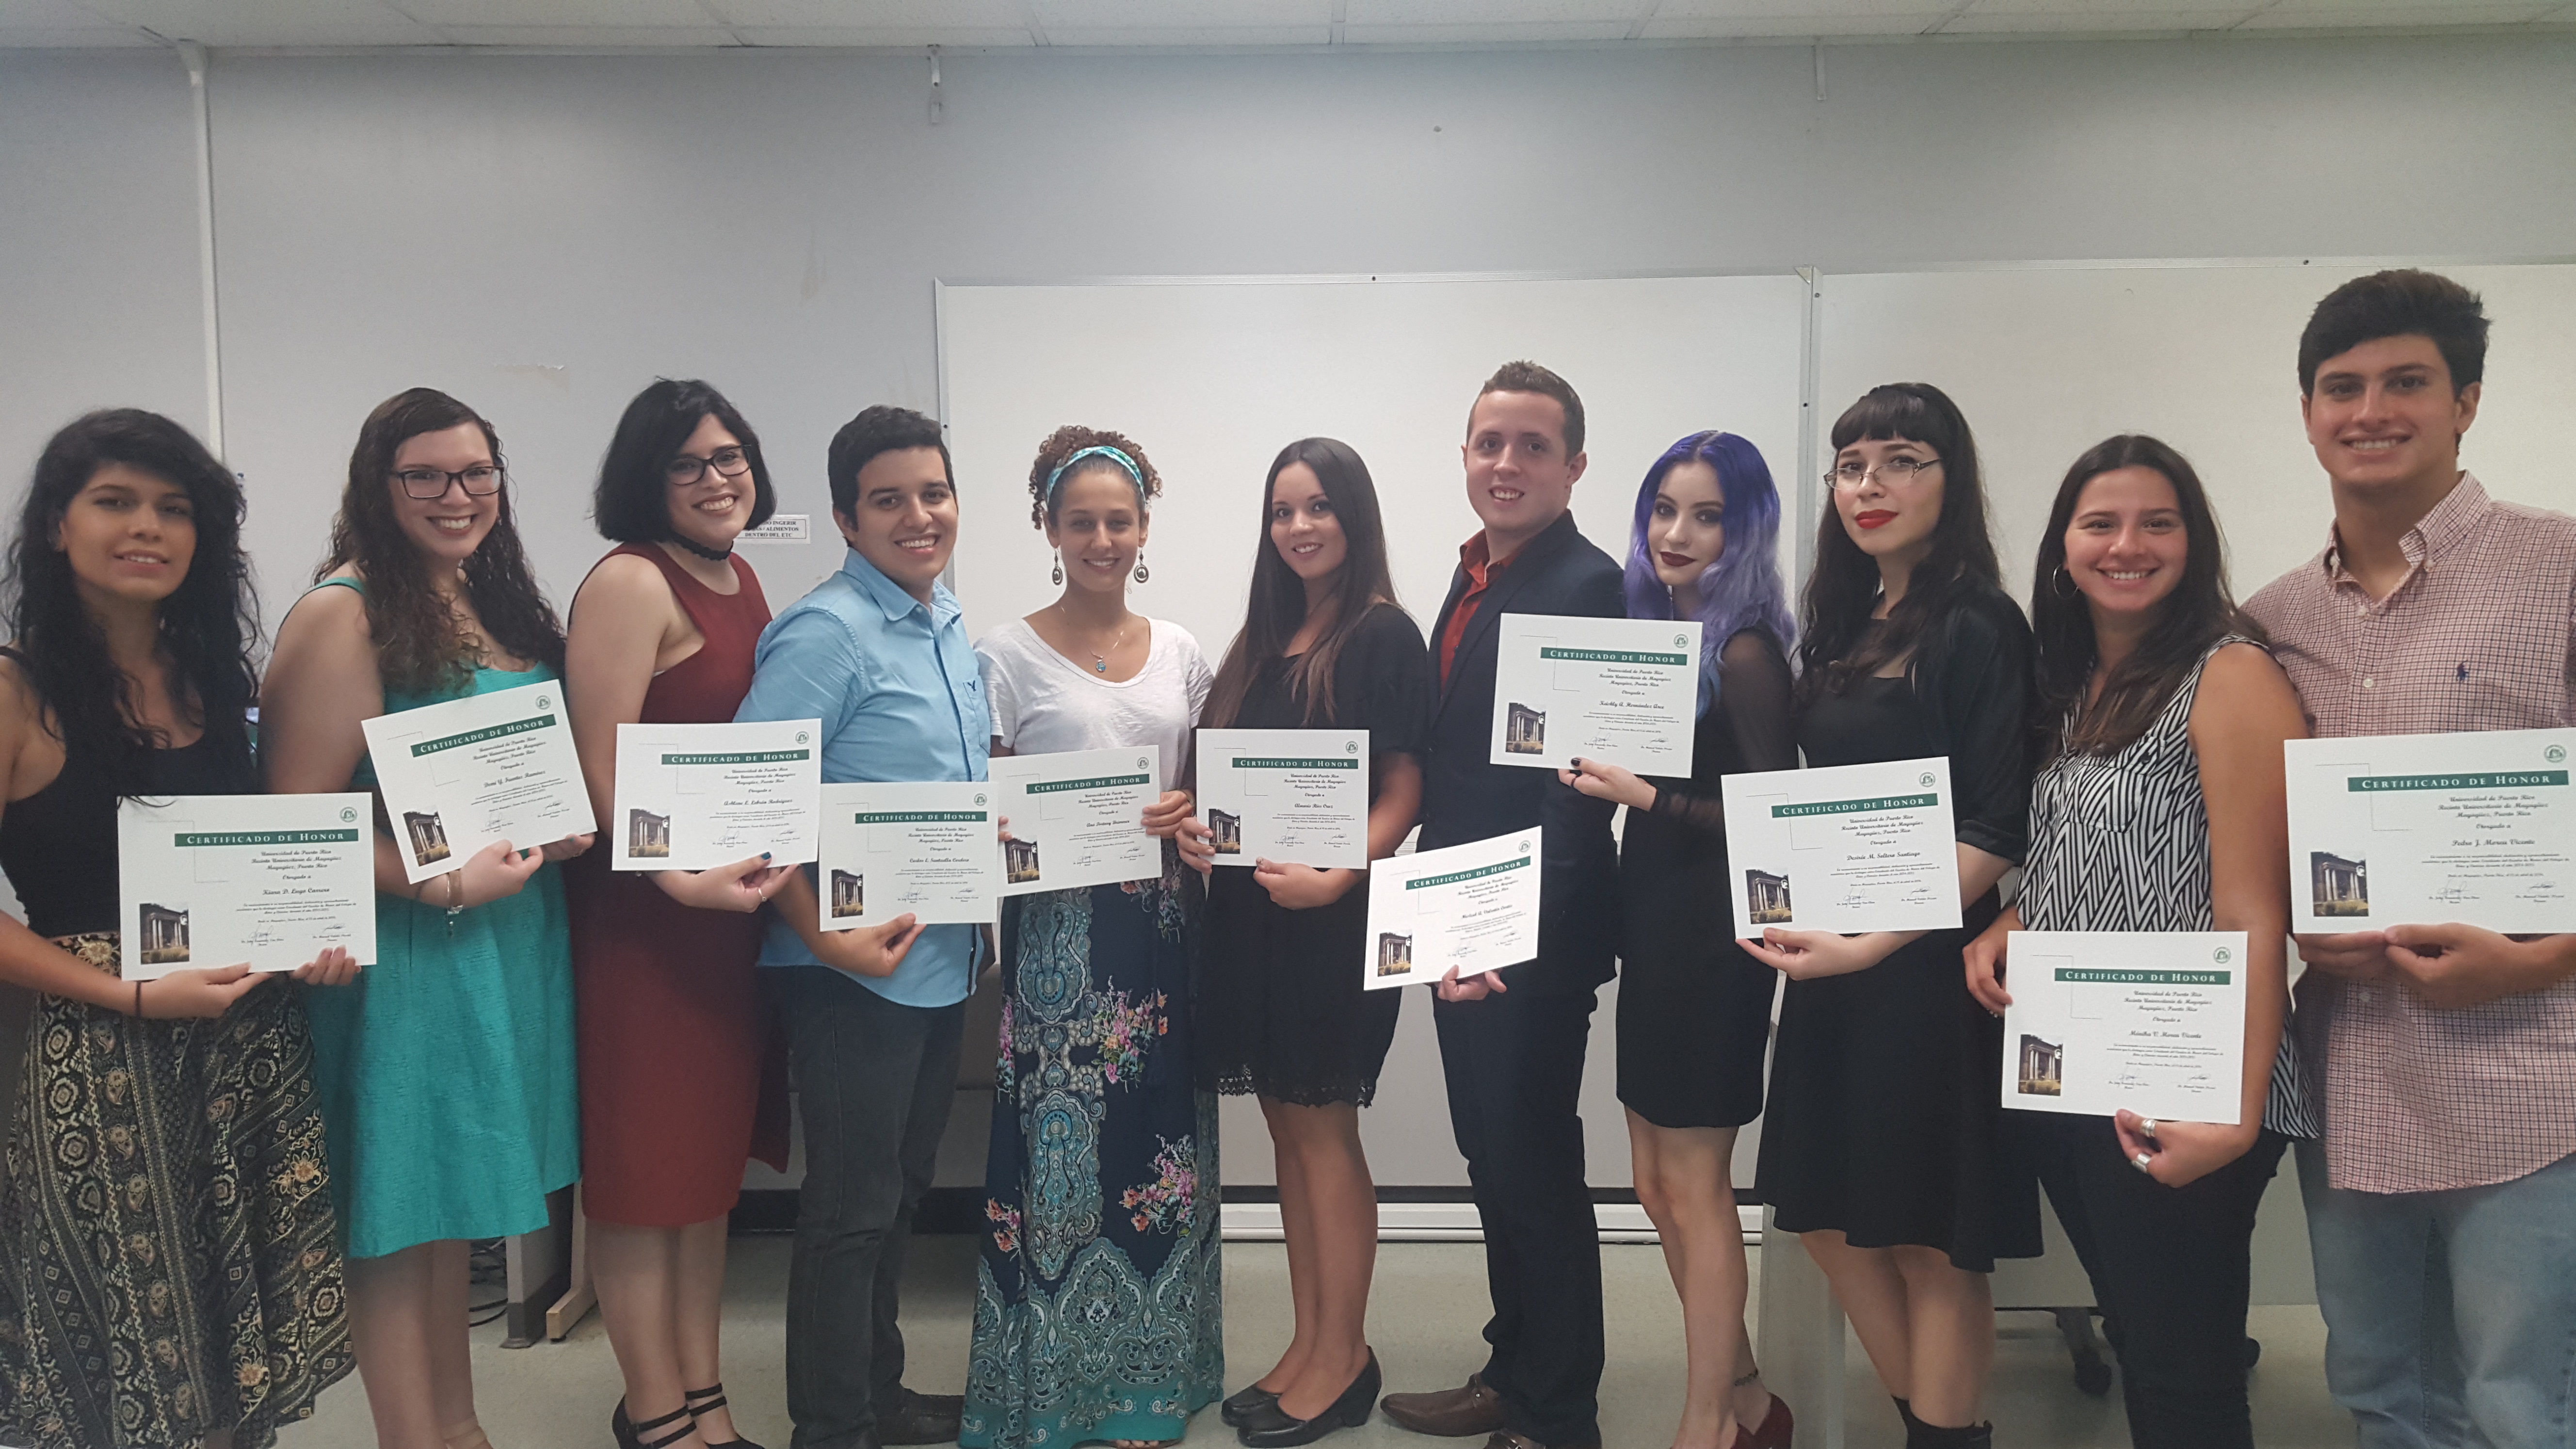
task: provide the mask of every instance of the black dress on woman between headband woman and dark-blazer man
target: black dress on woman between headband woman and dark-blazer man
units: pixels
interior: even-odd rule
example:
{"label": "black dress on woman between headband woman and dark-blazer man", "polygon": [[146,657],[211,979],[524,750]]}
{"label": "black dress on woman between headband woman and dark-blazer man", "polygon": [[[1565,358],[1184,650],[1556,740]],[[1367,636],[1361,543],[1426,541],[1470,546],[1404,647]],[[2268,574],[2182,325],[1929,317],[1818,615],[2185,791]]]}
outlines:
{"label": "black dress on woman between headband woman and dark-blazer man", "polygon": [[[1378,603],[1332,665],[1332,712],[1306,719],[1288,660],[1252,676],[1234,730],[1368,730],[1370,755],[1422,755],[1430,730],[1422,629]],[[1376,792],[1370,792],[1376,802]],[[1368,1106],[1396,1042],[1401,990],[1360,985],[1368,882],[1314,910],[1285,910],[1239,866],[1208,877],[1198,982],[1198,1080],[1298,1106]]]}

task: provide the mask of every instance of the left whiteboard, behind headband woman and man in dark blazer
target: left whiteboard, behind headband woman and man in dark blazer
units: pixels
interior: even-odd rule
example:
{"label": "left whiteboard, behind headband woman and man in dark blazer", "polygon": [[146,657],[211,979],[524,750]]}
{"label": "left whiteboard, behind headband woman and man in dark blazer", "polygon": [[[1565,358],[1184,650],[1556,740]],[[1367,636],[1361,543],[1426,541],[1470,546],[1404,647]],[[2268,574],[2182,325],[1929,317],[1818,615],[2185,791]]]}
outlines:
{"label": "left whiteboard, behind headband woman and man in dark blazer", "polygon": [[[1584,536],[1628,557],[1638,480],[1674,438],[1744,433],[1795,518],[1806,286],[1777,276],[1623,281],[1149,281],[940,286],[940,371],[963,511],[966,627],[1043,608],[1028,467],[1061,423],[1115,428],[1164,480],[1131,606],[1190,629],[1213,668],[1267,547],[1262,477],[1306,436],[1368,462],[1399,601],[1430,632],[1476,531],[1461,443],[1476,387],[1533,358],[1584,400]],[[1783,526],[1783,562],[1793,554]]]}

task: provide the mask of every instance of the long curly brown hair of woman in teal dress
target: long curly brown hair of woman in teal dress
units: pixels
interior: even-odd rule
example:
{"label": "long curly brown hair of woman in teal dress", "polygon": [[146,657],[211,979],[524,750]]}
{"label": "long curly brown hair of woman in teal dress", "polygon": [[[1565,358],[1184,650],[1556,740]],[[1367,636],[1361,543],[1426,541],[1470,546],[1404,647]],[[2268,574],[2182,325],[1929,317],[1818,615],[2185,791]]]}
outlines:
{"label": "long curly brown hair of woman in teal dress", "polygon": [[[430,588],[420,549],[394,518],[394,454],[420,433],[440,433],[464,423],[482,428],[492,462],[502,464],[500,433],[492,431],[492,423],[446,392],[412,387],[379,402],[366,415],[366,425],[358,428],[358,446],[348,454],[348,487],[340,492],[340,516],[330,526],[330,557],[314,570],[317,583],[343,565],[358,565],[366,578],[366,627],[376,637],[376,670],[386,691],[453,688],[474,673],[474,657],[456,614]],[[536,585],[536,572],[528,570],[528,552],[510,518],[507,482],[502,482],[497,503],[500,516],[492,521],[492,531],[464,567],[466,598],[474,601],[484,637],[523,660],[538,660],[562,673],[564,627]]]}

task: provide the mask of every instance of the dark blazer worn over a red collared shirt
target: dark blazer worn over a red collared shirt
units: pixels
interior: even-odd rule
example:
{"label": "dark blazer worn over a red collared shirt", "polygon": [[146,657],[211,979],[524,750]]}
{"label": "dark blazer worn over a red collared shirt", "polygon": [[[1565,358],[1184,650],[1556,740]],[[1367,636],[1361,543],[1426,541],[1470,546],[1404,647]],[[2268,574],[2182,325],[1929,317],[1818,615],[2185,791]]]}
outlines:
{"label": "dark blazer worn over a red collared shirt", "polygon": [[[1512,990],[1595,990],[1618,957],[1618,846],[1610,841],[1613,804],[1592,799],[1553,771],[1497,766],[1494,652],[1504,614],[1574,614],[1625,619],[1620,567],[1592,547],[1566,513],[1530,539],[1499,575],[1458,639],[1448,688],[1440,688],[1440,639],[1448,637],[1466,567],[1450,575],[1448,601],[1432,627],[1430,670],[1440,704],[1432,712],[1430,753],[1422,761],[1419,848],[1461,846],[1504,830],[1543,825],[1538,871],[1538,959],[1512,967]],[[1553,761],[1564,763],[1564,761]]]}

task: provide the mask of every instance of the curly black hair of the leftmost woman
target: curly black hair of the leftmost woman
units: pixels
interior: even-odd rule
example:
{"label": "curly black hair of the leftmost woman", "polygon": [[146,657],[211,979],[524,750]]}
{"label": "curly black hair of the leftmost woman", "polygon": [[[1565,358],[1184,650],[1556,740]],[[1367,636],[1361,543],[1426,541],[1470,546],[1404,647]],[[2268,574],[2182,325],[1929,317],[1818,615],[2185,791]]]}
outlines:
{"label": "curly black hair of the leftmost woman", "polygon": [[149,786],[152,750],[170,740],[137,719],[134,683],[108,657],[108,637],[80,601],[62,516],[98,469],[124,464],[188,495],[196,554],[160,603],[170,701],[222,761],[250,761],[247,712],[260,676],[260,603],[242,557],[242,485],[185,428],[139,407],[77,418],[44,446],[18,511],[8,559],[8,614],[21,668],[44,704],[46,730],[95,758],[118,794]]}

